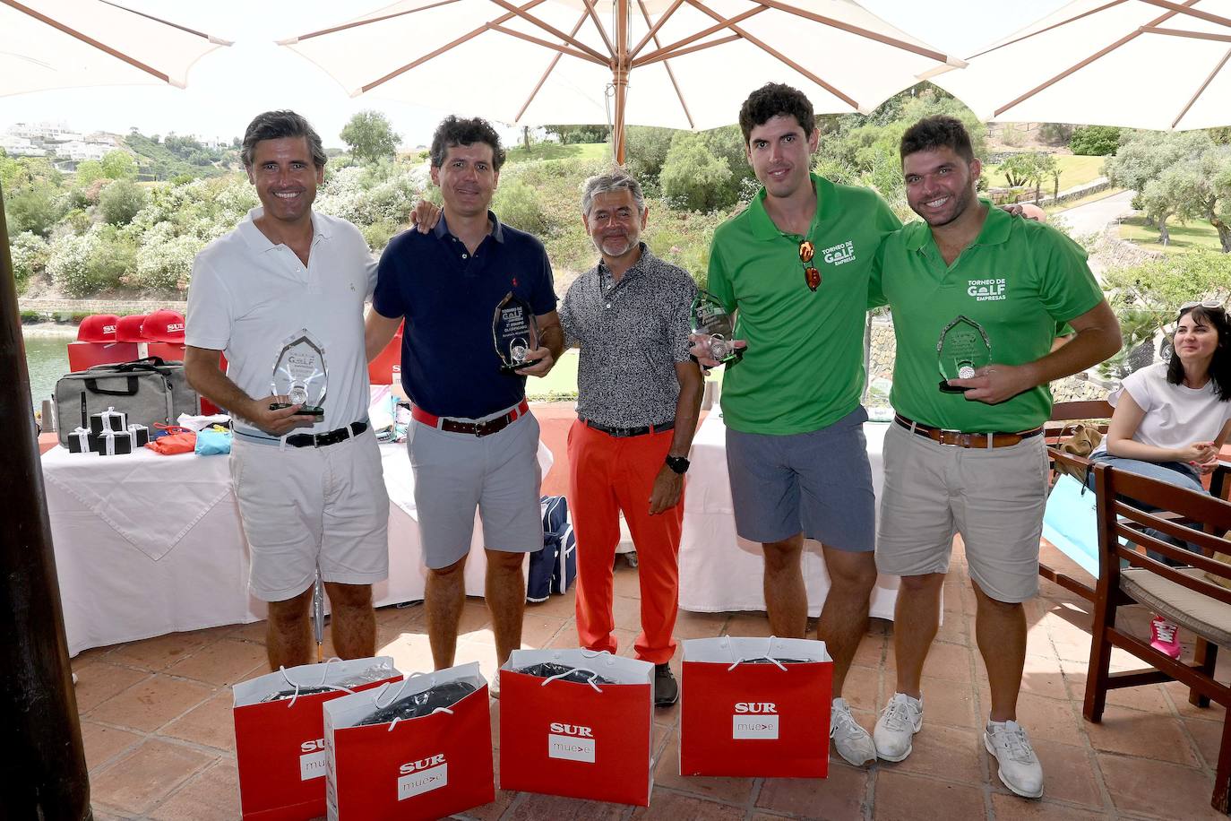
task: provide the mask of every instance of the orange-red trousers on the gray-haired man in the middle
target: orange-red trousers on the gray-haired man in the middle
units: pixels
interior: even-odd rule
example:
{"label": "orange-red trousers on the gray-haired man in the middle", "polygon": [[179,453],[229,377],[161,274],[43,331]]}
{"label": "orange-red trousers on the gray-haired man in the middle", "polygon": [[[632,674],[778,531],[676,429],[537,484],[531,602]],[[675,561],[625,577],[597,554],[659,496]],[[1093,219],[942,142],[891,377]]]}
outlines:
{"label": "orange-red trousers on the gray-haired man in the middle", "polygon": [[569,511],[577,537],[577,638],[588,650],[616,652],[612,563],[624,513],[636,547],[641,631],[636,657],[666,663],[676,652],[671,633],[680,607],[680,533],[683,494],[675,507],[650,516],[654,479],[673,431],[617,438],[586,427],[569,430]]}

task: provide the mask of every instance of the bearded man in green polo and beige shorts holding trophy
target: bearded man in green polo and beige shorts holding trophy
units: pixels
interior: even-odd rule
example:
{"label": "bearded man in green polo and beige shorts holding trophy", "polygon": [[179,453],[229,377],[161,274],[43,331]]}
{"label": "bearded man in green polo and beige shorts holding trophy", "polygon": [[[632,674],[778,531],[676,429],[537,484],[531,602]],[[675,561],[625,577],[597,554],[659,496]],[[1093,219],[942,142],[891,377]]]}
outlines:
{"label": "bearded man in green polo and beige shorts holding trophy", "polygon": [[[960,121],[920,121],[902,135],[901,158],[906,199],[923,222],[885,240],[869,288],[872,305],[892,308],[897,337],[876,566],[902,580],[896,692],[873,736],[880,758],[911,752],[923,720],[923,661],[960,533],[991,688],[984,746],[1006,787],[1038,798],[1043,767],[1016,710],[1022,602],[1039,587],[1048,383],[1115,353],[1120,329],[1081,247],[976,197],[981,166]],[[1076,336],[1051,351],[1061,322]],[[965,353],[954,354],[956,336]]]}

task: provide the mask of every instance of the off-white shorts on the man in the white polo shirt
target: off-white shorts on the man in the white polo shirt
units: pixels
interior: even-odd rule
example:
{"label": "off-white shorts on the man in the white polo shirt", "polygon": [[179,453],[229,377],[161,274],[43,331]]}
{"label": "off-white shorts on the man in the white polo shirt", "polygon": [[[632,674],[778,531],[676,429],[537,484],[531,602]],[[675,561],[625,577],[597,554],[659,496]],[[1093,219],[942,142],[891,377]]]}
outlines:
{"label": "off-white shorts on the man in the white polo shirt", "polygon": [[369,427],[324,448],[234,438],[231,483],[252,554],[249,590],[294,598],[321,579],[371,585],[389,576],[389,495]]}

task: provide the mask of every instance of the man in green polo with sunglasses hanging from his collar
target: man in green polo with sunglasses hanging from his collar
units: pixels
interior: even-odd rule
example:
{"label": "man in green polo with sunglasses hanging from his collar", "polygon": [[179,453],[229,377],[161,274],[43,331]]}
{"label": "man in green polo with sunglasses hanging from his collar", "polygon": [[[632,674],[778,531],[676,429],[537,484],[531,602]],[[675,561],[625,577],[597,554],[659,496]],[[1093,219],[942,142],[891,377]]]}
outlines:
{"label": "man in green polo with sunglasses hanging from his collar", "polygon": [[779,636],[806,631],[800,555],[805,537],[822,544],[831,587],[817,635],[833,657],[830,734],[860,766],[876,752],[841,695],[876,582],[863,327],[876,249],[900,223],[875,192],[809,172],[819,133],[795,89],[753,91],[740,128],[764,187],[718,228],[709,260],[709,290],[739,310],[735,335],[747,343],[723,382],[735,524],[763,545],[766,609]]}

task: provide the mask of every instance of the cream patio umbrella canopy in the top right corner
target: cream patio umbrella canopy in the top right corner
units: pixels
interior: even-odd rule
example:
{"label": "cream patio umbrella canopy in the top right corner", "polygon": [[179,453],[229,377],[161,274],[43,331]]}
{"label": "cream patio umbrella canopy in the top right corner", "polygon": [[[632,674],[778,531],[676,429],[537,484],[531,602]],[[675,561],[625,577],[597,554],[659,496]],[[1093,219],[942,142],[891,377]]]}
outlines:
{"label": "cream patio umbrella canopy in the top right corner", "polygon": [[1231,124],[1231,0],[1076,0],[934,82],[985,119]]}

